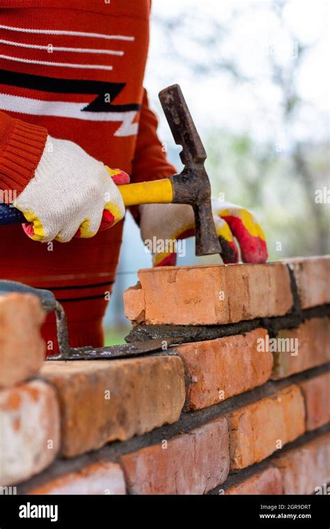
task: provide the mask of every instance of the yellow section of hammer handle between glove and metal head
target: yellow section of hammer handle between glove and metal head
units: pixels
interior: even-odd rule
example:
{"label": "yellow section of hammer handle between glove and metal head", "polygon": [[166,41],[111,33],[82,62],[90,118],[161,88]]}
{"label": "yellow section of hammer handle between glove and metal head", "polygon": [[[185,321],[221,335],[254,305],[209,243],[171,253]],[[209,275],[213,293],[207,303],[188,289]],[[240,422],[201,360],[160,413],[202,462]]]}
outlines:
{"label": "yellow section of hammer handle between glove and metal head", "polygon": [[123,196],[125,206],[139,204],[169,204],[173,201],[171,180],[152,180],[138,184],[124,184],[118,186]]}

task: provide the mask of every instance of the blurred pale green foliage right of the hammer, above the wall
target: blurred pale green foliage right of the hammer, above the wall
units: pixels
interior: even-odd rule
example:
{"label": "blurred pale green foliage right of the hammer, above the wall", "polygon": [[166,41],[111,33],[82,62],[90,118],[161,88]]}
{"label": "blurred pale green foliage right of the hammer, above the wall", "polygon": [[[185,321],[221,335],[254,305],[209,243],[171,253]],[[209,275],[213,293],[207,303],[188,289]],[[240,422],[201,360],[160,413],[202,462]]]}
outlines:
{"label": "blurred pale green foliage right of the hammer, above the wall", "polygon": [[221,129],[210,131],[205,143],[214,196],[253,210],[265,230],[269,260],[330,252],[329,203],[315,203],[329,174],[329,144],[304,145],[306,182],[292,153],[281,155],[272,143]]}

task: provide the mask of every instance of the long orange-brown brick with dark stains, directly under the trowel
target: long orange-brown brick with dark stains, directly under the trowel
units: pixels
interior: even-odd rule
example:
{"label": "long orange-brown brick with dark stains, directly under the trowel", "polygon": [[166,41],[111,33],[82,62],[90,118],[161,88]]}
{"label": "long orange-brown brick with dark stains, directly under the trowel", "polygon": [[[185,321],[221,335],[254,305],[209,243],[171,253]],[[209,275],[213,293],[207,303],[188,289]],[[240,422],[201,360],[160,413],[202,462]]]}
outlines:
{"label": "long orange-brown brick with dark stains, directly under the trowel", "polygon": [[184,404],[178,356],[47,362],[42,376],[58,390],[66,457],[175,423]]}

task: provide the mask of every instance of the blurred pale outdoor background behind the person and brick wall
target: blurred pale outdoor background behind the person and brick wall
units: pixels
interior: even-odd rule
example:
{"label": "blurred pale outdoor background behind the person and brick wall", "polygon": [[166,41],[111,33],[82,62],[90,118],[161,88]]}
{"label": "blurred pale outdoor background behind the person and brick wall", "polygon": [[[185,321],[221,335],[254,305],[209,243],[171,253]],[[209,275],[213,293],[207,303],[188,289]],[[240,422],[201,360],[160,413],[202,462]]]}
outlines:
{"label": "blurred pale outdoor background behind the person and brick wall", "polygon": [[[178,83],[207,152],[212,194],[251,209],[265,230],[269,260],[329,253],[328,0],[152,2],[145,86],[159,137],[181,171],[157,94]],[[178,265],[196,258],[194,241]],[[107,345],[130,325],[123,291],[151,257],[127,214]]]}

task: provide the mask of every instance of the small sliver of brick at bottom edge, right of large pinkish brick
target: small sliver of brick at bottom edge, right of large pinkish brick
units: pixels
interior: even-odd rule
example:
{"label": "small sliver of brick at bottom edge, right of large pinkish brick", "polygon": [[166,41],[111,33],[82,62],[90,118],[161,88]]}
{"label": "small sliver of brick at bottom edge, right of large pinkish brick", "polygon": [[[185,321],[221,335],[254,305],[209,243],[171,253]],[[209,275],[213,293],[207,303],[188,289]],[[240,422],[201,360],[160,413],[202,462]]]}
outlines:
{"label": "small sliver of brick at bottom edge, right of large pinkish brick", "polygon": [[226,489],[225,483],[223,489],[225,494],[230,495],[283,494],[281,473],[278,468],[272,466],[246,477],[237,484],[231,485],[228,489]]}

